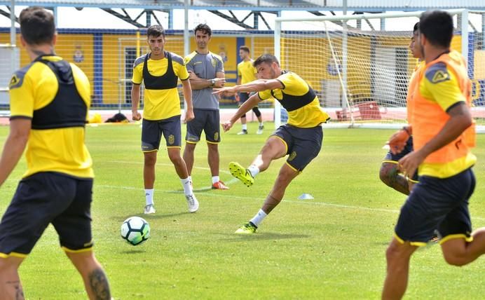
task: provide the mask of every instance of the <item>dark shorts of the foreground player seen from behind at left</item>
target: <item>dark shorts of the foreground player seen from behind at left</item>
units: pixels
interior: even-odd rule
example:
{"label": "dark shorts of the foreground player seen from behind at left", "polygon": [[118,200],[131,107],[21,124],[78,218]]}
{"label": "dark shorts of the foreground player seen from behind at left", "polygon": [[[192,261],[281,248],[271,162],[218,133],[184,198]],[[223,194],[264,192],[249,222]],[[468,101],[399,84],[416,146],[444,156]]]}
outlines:
{"label": "dark shorts of the foreground player seen from behind at left", "polygon": [[22,179],[0,223],[0,257],[25,257],[53,224],[67,252],[90,250],[93,179],[39,172]]}

